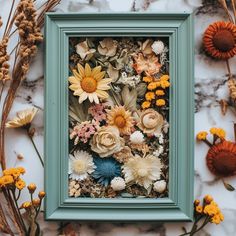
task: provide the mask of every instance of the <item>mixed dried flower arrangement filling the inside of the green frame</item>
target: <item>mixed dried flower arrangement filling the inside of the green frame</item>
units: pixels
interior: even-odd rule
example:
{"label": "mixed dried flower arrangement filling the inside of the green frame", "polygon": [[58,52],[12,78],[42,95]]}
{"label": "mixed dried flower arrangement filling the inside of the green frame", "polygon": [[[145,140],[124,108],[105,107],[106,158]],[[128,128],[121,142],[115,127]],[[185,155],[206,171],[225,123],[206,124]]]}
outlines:
{"label": "mixed dried flower arrangement filling the inside of the green frame", "polygon": [[166,38],[70,38],[69,196],[168,195]]}

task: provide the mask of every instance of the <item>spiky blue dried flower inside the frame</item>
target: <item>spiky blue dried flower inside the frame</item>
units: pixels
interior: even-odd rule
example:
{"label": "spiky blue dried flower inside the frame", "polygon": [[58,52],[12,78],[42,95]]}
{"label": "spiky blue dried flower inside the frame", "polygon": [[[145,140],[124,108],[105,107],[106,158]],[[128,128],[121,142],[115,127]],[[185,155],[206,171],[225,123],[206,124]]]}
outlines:
{"label": "spiky blue dried flower inside the frame", "polygon": [[92,173],[92,176],[98,183],[107,186],[114,177],[120,176],[120,164],[114,158],[94,157],[93,161],[96,169]]}

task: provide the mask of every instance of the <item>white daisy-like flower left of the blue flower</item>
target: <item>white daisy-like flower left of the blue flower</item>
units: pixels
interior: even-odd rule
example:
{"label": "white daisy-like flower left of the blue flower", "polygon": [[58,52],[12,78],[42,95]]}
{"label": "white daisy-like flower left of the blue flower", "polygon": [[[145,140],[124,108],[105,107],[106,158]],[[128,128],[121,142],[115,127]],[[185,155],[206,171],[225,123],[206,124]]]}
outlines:
{"label": "white daisy-like flower left of the blue flower", "polygon": [[88,177],[88,174],[93,173],[95,169],[92,156],[85,151],[74,152],[74,155],[69,155],[69,171],[71,179],[83,180]]}

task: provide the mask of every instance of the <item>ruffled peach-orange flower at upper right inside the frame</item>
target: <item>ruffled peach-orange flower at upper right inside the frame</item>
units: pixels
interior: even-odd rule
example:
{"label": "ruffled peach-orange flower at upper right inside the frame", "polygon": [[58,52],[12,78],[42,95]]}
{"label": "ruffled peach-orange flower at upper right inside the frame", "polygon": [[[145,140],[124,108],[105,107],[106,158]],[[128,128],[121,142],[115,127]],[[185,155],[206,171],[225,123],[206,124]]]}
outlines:
{"label": "ruffled peach-orange flower at upper right inside the frame", "polygon": [[155,55],[151,54],[148,57],[144,57],[142,53],[139,53],[133,57],[135,60],[133,67],[138,74],[144,71],[147,76],[152,76],[160,71],[161,64]]}

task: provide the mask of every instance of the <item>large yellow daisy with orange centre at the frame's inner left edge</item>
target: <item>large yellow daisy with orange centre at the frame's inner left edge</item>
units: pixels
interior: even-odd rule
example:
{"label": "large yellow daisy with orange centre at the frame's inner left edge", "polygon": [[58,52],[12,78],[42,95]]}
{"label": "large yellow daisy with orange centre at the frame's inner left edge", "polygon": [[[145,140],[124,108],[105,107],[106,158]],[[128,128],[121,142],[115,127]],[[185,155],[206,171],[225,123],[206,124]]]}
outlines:
{"label": "large yellow daisy with orange centre at the frame's inner left edge", "polygon": [[69,88],[74,91],[75,96],[79,96],[79,103],[86,99],[90,102],[99,103],[99,99],[108,98],[106,90],[110,89],[108,85],[112,79],[104,79],[105,71],[101,71],[101,66],[91,69],[86,63],[85,68],[77,64],[77,70],[73,70],[73,76],[69,77]]}

